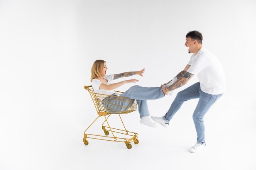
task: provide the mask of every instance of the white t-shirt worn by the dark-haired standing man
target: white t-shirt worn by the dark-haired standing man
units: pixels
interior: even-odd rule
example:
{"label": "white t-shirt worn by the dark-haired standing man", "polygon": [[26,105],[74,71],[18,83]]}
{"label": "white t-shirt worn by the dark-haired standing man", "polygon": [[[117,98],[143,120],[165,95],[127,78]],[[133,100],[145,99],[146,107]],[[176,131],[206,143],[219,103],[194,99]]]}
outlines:
{"label": "white t-shirt worn by the dark-haired standing man", "polygon": [[225,75],[219,60],[202,47],[189,60],[187,72],[198,75],[200,88],[211,95],[219,95],[226,91]]}

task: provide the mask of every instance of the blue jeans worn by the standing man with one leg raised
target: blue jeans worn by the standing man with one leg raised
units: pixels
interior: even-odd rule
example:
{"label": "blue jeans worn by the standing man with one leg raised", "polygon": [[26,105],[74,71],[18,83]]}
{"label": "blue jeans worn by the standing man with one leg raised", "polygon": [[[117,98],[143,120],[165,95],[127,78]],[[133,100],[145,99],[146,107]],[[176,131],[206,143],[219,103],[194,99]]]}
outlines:
{"label": "blue jeans worn by the standing man with one leg raised", "polygon": [[204,93],[200,88],[200,82],[197,82],[177,94],[171,107],[163,118],[169,122],[185,101],[199,98],[193,113],[193,121],[197,134],[197,142],[199,144],[204,144],[204,115],[221,96],[222,94],[211,95]]}

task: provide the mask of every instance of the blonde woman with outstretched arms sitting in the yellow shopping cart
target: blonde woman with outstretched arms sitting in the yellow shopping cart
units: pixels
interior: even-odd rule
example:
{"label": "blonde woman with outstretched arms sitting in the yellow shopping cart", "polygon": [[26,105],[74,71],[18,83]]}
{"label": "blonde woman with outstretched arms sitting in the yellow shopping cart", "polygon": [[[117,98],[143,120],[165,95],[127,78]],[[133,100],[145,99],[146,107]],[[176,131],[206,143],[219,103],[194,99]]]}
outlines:
{"label": "blonde woman with outstretched arms sitting in the yellow shopping cart", "polygon": [[[95,93],[111,95],[110,97],[106,97],[102,100],[103,105],[106,106],[106,108],[110,108],[111,105],[117,102],[117,100],[115,100],[115,88],[118,88],[126,83],[135,83],[139,80],[129,79],[117,83],[112,83],[112,81],[121,77],[129,77],[136,74],[143,76],[142,73],[144,73],[144,69],[141,71],[125,72],[114,75],[106,75],[107,70],[108,67],[104,60],[96,60],[91,69],[91,82]],[[163,93],[163,88],[164,87],[132,86],[122,95],[120,95],[121,97],[128,97],[129,99],[121,103],[121,106],[123,107],[120,106],[118,109],[120,111],[124,111],[124,109],[130,107],[134,102],[134,99],[136,99],[141,118],[140,123],[150,127],[156,127],[157,124],[151,119],[148,111],[147,99],[159,99],[164,97],[165,95]],[[120,103],[116,105],[120,105]],[[110,112],[110,110],[108,111]]]}

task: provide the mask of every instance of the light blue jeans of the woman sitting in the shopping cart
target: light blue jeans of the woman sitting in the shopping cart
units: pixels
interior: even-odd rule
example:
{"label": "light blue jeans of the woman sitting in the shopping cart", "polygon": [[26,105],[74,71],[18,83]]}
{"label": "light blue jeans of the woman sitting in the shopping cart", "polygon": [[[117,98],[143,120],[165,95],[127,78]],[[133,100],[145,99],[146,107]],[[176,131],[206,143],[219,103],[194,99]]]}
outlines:
{"label": "light blue jeans of the woman sitting in the shopping cart", "polygon": [[[164,93],[162,91],[162,87],[141,87],[141,86],[132,86],[127,91],[125,91],[123,94],[120,95],[121,97],[128,97],[127,101],[118,103],[118,105],[121,105],[121,109],[125,110],[126,108],[130,107],[132,105],[133,100],[136,99],[138,104],[138,111],[140,117],[149,116],[150,113],[148,111],[148,103],[147,100],[154,100],[154,99],[160,99],[164,97]],[[129,101],[129,102],[128,102]],[[112,99],[109,100],[108,103],[110,105],[117,105],[117,100]],[[104,104],[103,104],[104,105]],[[115,110],[119,111],[119,110]],[[122,111],[122,110],[120,110]]]}

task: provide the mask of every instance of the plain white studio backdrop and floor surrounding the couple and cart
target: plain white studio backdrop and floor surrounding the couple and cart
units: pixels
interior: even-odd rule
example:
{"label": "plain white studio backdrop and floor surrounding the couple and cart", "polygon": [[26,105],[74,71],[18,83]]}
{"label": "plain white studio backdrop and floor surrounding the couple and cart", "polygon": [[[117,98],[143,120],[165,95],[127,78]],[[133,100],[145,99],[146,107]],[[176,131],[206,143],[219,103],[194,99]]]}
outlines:
{"label": "plain white studio backdrop and floor surrounding the couple and cart", "polygon": [[[255,9],[255,0],[0,0],[0,170],[255,170]],[[106,60],[108,74],[145,67],[144,77],[131,78],[160,86],[188,63],[185,35],[193,30],[227,80],[204,119],[207,149],[188,152],[197,99],[168,128],[139,124],[138,111],[124,115],[126,128],[139,133],[130,150],[94,139],[85,146],[83,131],[97,117],[83,89],[92,63]],[[148,101],[151,115],[164,115],[197,81]],[[103,135],[102,121],[90,132]]]}

